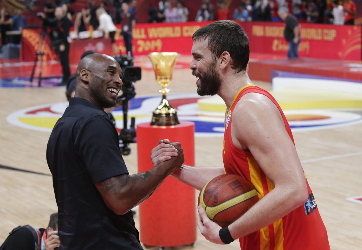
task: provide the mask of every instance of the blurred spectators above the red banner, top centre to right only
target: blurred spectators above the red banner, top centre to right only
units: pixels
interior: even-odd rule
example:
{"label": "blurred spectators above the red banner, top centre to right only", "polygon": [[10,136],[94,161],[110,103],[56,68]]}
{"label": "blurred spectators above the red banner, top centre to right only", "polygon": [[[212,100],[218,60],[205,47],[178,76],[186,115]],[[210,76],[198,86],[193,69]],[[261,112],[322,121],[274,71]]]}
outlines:
{"label": "blurred spectators above the red banner, top centre to right only", "polygon": [[[239,0],[237,7],[230,9],[231,1],[217,1],[216,6],[210,0],[199,0],[199,9],[195,19],[190,20],[188,9],[182,1],[161,0],[158,8],[149,11],[148,22],[185,22],[231,19],[236,21],[281,21],[278,9],[287,7],[289,13],[299,22],[324,24],[354,24],[356,7],[352,0]],[[176,4],[175,4],[176,3]],[[197,5],[197,3],[196,3]]]}

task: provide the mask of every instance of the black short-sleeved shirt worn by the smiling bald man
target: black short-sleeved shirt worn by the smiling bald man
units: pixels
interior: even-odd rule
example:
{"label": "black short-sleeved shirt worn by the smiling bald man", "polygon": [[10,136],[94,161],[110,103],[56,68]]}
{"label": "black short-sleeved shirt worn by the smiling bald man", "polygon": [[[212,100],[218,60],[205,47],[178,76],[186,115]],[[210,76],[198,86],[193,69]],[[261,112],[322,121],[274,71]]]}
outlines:
{"label": "black short-sleeved shirt worn by the smiling bald man", "polygon": [[132,212],[115,214],[94,185],[128,174],[117,131],[103,110],[71,98],[51,132],[47,162],[58,204],[60,249],[142,249]]}

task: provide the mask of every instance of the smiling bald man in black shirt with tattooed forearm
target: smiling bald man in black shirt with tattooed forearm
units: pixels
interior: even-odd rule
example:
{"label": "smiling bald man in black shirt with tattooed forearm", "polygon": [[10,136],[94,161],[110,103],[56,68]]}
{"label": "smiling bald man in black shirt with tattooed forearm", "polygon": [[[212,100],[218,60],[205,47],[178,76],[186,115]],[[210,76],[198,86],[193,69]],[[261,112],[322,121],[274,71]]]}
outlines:
{"label": "smiling bald man in black shirt with tattooed forearm", "polygon": [[119,63],[91,54],[81,60],[76,74],[75,97],[47,145],[60,249],[142,249],[131,208],[181,167],[182,148],[161,143],[152,149],[154,168],[129,175],[117,131],[104,112],[115,105],[122,87]]}

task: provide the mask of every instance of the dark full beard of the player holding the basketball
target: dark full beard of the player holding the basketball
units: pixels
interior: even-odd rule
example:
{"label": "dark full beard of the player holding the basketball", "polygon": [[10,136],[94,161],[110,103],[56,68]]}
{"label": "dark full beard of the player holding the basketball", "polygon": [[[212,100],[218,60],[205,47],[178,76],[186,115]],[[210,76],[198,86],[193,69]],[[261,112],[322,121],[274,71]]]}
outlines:
{"label": "dark full beard of the player holding the basketball", "polygon": [[[200,85],[197,88],[199,96],[214,96],[218,93],[221,79],[219,73],[215,69],[216,62],[212,62],[203,72],[202,76],[196,74],[200,79]],[[193,75],[195,72],[193,72]]]}

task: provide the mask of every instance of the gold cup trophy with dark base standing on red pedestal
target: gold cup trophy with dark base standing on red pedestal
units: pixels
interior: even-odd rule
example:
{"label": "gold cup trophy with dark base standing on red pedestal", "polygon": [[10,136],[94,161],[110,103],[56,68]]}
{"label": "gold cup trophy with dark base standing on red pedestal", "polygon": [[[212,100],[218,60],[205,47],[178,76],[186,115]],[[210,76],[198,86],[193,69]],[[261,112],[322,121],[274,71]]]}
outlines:
{"label": "gold cup trophy with dark base standing on red pedestal", "polygon": [[162,89],[159,90],[159,93],[162,94],[162,101],[153,111],[151,125],[180,124],[176,109],[171,107],[166,99],[166,94],[171,91],[166,87],[172,80],[173,67],[178,55],[177,52],[152,52],[148,54],[155,71],[156,81],[162,86]]}

